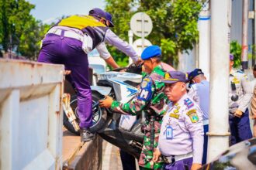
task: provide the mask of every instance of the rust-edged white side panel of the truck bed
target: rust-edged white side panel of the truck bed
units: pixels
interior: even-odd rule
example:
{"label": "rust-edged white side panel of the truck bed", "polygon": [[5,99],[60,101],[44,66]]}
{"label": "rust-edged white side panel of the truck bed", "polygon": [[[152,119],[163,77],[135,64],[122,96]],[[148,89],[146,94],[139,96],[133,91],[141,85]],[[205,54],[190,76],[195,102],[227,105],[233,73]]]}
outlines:
{"label": "rust-edged white side panel of the truck bed", "polygon": [[0,59],[0,169],[61,169],[64,66]]}

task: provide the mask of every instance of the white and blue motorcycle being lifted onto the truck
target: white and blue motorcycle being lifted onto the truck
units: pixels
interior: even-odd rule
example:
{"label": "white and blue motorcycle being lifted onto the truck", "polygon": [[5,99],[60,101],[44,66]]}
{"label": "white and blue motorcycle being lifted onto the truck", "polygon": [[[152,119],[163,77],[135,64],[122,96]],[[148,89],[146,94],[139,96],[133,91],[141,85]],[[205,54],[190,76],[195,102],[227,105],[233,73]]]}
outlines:
{"label": "white and blue motorcycle being lifted onto the truck", "polygon": [[[112,112],[110,109],[99,107],[99,100],[102,100],[105,95],[126,103],[138,93],[137,86],[142,79],[142,76],[138,74],[141,73],[141,65],[133,63],[126,68],[126,72],[118,72],[123,69],[119,68],[95,75],[98,81],[97,86],[91,87],[93,125],[90,127],[90,131],[97,132],[112,145],[116,145],[135,158],[139,158],[144,140],[144,134],[141,131],[145,121],[144,114],[137,116],[123,115]],[[68,83],[66,84],[71,89],[72,86]],[[74,93],[74,90],[69,90],[69,93]],[[64,107],[64,127],[68,131],[79,135],[79,131],[74,125],[79,124],[77,101],[75,95],[71,97],[70,107],[71,110],[74,110],[75,117],[71,117],[67,108]]]}

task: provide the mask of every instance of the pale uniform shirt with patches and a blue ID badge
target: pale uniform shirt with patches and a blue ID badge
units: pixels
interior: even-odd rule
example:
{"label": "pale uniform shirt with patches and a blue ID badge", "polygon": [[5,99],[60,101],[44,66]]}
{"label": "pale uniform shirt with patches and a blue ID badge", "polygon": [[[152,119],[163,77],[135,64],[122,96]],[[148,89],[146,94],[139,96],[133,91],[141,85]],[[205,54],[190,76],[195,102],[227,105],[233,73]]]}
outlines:
{"label": "pale uniform shirt with patches and a blue ID badge", "polygon": [[[185,94],[174,106],[168,105],[161,124],[158,148],[164,156],[193,153],[193,163],[202,163],[202,111]],[[172,130],[171,130],[172,128]]]}

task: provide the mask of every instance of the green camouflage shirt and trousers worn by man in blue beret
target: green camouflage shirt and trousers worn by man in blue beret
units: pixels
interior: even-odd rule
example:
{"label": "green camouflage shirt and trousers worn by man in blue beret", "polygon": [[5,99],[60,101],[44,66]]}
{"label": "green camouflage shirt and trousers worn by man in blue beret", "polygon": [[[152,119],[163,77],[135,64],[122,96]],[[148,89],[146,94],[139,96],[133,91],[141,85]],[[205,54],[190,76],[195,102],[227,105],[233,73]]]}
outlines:
{"label": "green camouflage shirt and trousers worn by man in blue beret", "polygon": [[163,165],[161,158],[154,163],[152,161],[153,151],[150,148],[150,115],[155,115],[154,121],[154,148],[157,148],[158,137],[161,128],[163,116],[163,106],[168,100],[164,94],[164,83],[161,80],[164,78],[164,70],[161,65],[158,65],[150,73],[144,76],[140,83],[140,92],[133,97],[129,103],[122,104],[118,101],[112,102],[112,110],[120,114],[140,114],[144,110],[146,114],[146,123],[144,126],[144,144],[140,154],[139,165],[144,168],[159,169]]}

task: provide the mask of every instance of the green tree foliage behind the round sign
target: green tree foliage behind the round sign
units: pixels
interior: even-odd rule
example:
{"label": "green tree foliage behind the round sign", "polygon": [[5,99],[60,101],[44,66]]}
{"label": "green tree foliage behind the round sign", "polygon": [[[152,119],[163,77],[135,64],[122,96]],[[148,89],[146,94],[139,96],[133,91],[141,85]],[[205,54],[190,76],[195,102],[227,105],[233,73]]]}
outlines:
{"label": "green tree foliage behind the round sign", "polygon": [[[178,52],[192,49],[197,42],[201,6],[195,0],[106,0],[106,11],[113,15],[113,31],[123,39],[128,39],[129,22],[134,13],[146,12],[150,15],[153,30],[146,38],[152,44],[161,46],[166,63],[178,63]],[[110,51],[114,57],[124,58],[115,49]]]}

